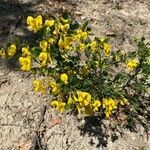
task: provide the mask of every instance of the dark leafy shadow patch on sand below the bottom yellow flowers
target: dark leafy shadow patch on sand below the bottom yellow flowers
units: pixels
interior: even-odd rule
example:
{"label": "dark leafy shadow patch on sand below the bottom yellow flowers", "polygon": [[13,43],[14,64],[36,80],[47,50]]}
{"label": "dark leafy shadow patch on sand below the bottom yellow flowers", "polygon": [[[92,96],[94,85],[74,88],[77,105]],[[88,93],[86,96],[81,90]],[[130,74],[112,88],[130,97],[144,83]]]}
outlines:
{"label": "dark leafy shadow patch on sand below the bottom yellow flowers", "polygon": [[[90,144],[96,144],[97,148],[106,148],[109,140],[115,142],[119,138],[116,134],[117,130],[113,129],[110,134],[110,129],[106,127],[105,123],[102,121],[102,118],[97,116],[85,117],[85,124],[78,127],[78,129],[81,131],[82,136],[88,134],[90,137],[97,138],[98,143],[95,143],[93,140],[90,141]],[[119,134],[122,135],[120,131]]]}

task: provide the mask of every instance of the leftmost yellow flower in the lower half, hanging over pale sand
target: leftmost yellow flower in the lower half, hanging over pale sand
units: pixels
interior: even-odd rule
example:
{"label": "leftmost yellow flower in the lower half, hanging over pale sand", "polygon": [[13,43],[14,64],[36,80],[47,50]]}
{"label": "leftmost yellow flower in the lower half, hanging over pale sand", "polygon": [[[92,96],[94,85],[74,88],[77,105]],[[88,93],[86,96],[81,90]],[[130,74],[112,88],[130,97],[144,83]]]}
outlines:
{"label": "leftmost yellow flower in the lower half, hanging over pale sand", "polygon": [[40,81],[34,80],[33,86],[35,92],[41,92],[42,94],[45,93],[45,87]]}

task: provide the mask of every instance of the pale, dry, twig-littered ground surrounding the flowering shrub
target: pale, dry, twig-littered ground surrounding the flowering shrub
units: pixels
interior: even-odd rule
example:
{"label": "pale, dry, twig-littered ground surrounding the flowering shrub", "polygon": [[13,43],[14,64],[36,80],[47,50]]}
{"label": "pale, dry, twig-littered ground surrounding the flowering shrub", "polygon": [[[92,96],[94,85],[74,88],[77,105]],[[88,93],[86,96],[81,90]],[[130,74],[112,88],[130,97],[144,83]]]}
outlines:
{"label": "pale, dry, twig-littered ground surrounding the flowering shrub", "polygon": [[[150,41],[149,0],[1,0],[0,46],[14,36],[32,40],[23,25],[28,15],[58,16],[62,10],[68,10],[80,22],[90,20],[95,35],[111,36],[114,50],[135,49],[134,39],[141,36]],[[91,121],[56,112],[49,107],[48,96],[33,92],[33,79],[12,62],[0,60],[1,150],[29,150],[36,144],[36,130],[41,147],[48,150],[150,149],[141,126],[137,133],[123,129],[121,136],[119,132],[110,133],[95,118]]]}

